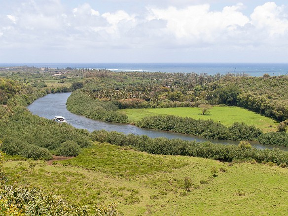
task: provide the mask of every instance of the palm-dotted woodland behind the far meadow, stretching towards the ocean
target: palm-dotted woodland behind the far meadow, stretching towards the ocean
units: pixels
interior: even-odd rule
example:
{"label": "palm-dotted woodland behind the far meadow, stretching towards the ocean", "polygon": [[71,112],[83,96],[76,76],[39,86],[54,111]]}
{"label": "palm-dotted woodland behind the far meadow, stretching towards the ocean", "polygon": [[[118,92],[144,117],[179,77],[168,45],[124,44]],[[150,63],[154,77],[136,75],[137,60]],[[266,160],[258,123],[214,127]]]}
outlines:
{"label": "palm-dotted woodland behind the far meadow, stretching towards the ocean", "polygon": [[[280,121],[288,118],[288,76],[160,72],[90,72],[86,75],[89,77],[89,82],[84,83],[86,94],[113,101],[119,108],[197,107],[208,103],[249,108]],[[118,82],[109,83],[108,87],[98,85],[99,80],[106,82],[115,76],[126,85]]]}

